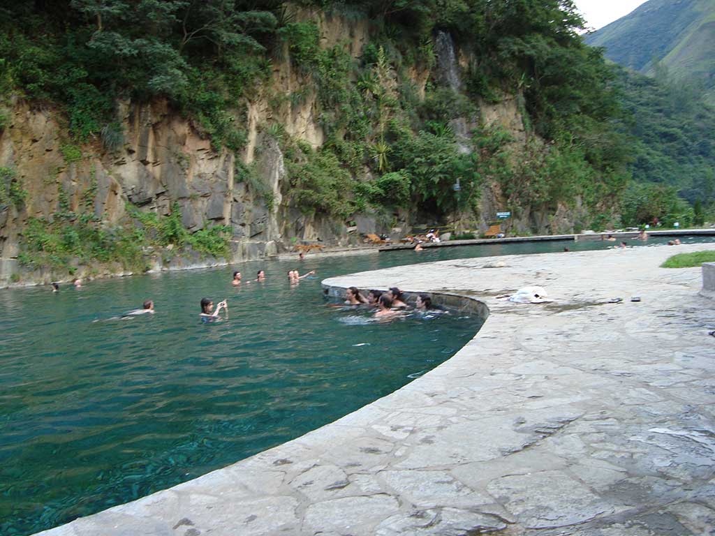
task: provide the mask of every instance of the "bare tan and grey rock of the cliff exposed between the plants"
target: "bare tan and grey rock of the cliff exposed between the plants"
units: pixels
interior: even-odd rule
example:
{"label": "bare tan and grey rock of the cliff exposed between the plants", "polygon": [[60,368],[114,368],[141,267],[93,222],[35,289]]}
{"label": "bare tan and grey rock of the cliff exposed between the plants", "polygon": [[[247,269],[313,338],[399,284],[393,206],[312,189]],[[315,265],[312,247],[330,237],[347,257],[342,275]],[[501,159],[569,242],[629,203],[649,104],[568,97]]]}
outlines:
{"label": "bare tan and grey rock of the cliff exposed between the plants", "polygon": [[[330,18],[322,13],[302,12],[302,18],[317,20],[322,46],[343,44],[358,57],[368,42],[366,21],[350,23]],[[438,62],[436,75],[449,86],[460,89],[459,52],[448,34],[437,36]],[[463,59],[463,58],[462,58]],[[412,68],[418,94],[424,96],[427,69]],[[307,88],[307,91],[306,91]],[[302,89],[300,103],[282,99]],[[0,286],[16,281],[47,282],[62,274],[23,271],[16,262],[20,252],[21,233],[30,217],[51,219],[66,198],[75,212],[94,212],[107,224],[117,224],[126,217],[127,203],[144,212],[169,214],[177,203],[182,223],[189,231],[212,224],[230,225],[233,229],[232,253],[227,262],[259,259],[287,251],[299,241],[320,241],[330,245],[358,242],[357,235],[347,232],[346,222],[327,219],[320,214],[307,216],[291,204],[290,184],[287,184],[283,154],[277,140],[270,136],[268,126],[282,124],[287,134],[302,139],[312,147],[320,147],[325,135],[317,117],[317,89],[310,79],[292,69],[290,61],[275,61],[270,84],[259,88],[254,98],[237,104],[245,118],[247,144],[241,154],[226,149],[217,151],[207,137],[191,121],[170,109],[165,102],[149,104],[129,102],[119,105],[119,120],[124,142],[112,151],[97,142],[74,147],[66,135],[61,114],[51,108],[31,107],[23,101],[11,106],[8,126],[0,131],[0,167],[11,167],[28,192],[20,206],[0,207]],[[240,114],[239,114],[240,115]],[[499,104],[480,105],[480,121],[498,124],[509,131],[516,145],[523,144],[526,133],[514,96],[505,96]],[[468,139],[473,119],[453,121],[458,137]],[[81,149],[81,154],[77,149]],[[464,150],[468,151],[466,143]],[[237,162],[254,164],[255,184],[242,182],[236,170]],[[272,199],[266,202],[265,199]],[[485,229],[493,212],[501,209],[504,199],[494,184],[488,184],[482,195],[480,226]],[[399,214],[402,231],[409,226],[409,215]],[[564,218],[566,222],[568,218]],[[357,214],[358,232],[387,232],[390,226],[370,215]],[[516,222],[519,229],[552,230],[553,219],[528,210]],[[536,227],[536,229],[534,229]],[[556,229],[554,229],[556,230]],[[194,259],[196,260],[196,259]],[[215,259],[197,261],[215,263]],[[154,269],[184,267],[192,262],[174,258],[162,261],[157,256]],[[89,267],[77,267],[77,274]],[[121,273],[117,266],[92,267],[95,274]]]}

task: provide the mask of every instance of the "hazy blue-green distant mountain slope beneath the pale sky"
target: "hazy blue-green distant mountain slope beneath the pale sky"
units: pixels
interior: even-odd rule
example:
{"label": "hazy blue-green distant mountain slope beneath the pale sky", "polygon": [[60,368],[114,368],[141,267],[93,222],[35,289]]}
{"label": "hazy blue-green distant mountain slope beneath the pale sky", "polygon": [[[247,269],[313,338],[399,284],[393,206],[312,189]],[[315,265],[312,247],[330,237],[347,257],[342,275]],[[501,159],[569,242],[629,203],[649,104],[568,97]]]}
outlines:
{"label": "hazy blue-green distant mountain slope beneath the pale sky", "polygon": [[650,0],[585,41],[644,74],[654,74],[660,64],[673,79],[691,82],[715,103],[714,0]]}

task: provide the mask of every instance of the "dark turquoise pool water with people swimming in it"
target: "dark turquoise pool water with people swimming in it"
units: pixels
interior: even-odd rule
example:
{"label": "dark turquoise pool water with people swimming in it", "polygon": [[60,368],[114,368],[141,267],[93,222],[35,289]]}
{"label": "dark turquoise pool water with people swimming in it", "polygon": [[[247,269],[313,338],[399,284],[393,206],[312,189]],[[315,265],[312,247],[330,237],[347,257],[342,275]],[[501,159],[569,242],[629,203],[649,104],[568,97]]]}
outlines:
{"label": "dark turquoise pool water with people swimming in it", "polygon": [[[612,244],[309,256],[107,279],[58,294],[0,291],[0,534],[54,527],[314,430],[448,359],[480,327],[457,314],[370,322],[365,312],[327,307],[320,279],[564,245]],[[295,267],[317,269],[319,279],[292,288],[286,272]],[[232,269],[245,279],[265,269],[267,282],[235,289]],[[228,299],[227,322],[199,323],[204,296]],[[148,297],[153,317],[109,320]]]}

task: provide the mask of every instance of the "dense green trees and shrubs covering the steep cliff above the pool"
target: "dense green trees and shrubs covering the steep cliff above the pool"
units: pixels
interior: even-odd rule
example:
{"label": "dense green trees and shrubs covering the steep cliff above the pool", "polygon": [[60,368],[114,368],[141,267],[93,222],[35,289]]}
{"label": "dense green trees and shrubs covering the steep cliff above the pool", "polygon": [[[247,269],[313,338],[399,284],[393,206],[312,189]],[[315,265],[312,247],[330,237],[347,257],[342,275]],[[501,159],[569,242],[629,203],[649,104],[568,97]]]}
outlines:
{"label": "dense green trees and shrubs covering the steep cliff above the pool", "polygon": [[[360,54],[325,45],[331,17],[368,27]],[[474,211],[496,184],[516,214],[578,206],[586,227],[613,220],[628,175],[613,70],[581,26],[571,0],[19,0],[0,8],[0,91],[61,107],[68,163],[87,142],[122,147],[122,102],[163,99],[238,152],[247,102],[277,110],[316,96],[322,147],[261,125],[285,155],[284,204],[343,222],[445,217]],[[305,81],[290,94],[272,77],[285,61]],[[480,117],[515,96],[520,139]],[[272,206],[256,170],[237,169]],[[26,235],[31,250],[44,243]]]}

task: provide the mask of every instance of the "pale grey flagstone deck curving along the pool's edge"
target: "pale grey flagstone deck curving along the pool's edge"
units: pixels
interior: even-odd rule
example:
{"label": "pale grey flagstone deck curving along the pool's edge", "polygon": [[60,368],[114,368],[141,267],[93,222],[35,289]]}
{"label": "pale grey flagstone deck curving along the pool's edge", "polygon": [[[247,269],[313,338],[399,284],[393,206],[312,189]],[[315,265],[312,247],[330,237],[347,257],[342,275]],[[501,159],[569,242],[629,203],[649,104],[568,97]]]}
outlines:
{"label": "pale grey flagstone deck curving along the pool's edge", "polygon": [[[42,534],[715,535],[715,301],[699,268],[658,267],[700,249],[715,246],[330,279],[456,291],[491,314],[448,362],[362,410]],[[495,299],[527,284],[556,302]]]}

